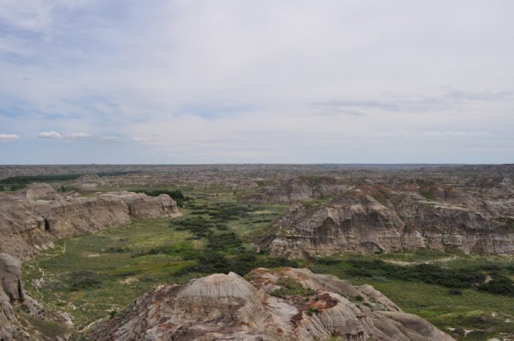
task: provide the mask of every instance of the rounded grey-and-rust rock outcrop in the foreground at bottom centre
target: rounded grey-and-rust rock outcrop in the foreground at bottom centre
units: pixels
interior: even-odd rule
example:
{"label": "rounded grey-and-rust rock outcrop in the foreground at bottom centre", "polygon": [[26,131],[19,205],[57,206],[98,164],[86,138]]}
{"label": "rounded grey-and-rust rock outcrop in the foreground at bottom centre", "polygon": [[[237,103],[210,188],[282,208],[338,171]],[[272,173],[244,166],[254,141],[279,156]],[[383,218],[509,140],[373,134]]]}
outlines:
{"label": "rounded grey-and-rust rock outcrop in the foreground at bottom centre", "polygon": [[[158,287],[86,340],[453,340],[368,285],[293,268],[256,269],[250,278],[215,274]],[[306,293],[273,296],[285,281]]]}

